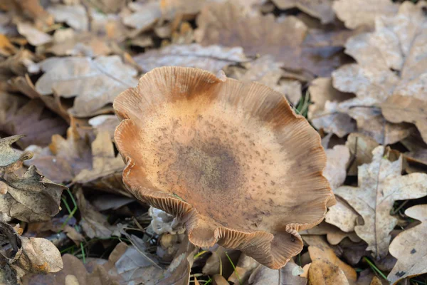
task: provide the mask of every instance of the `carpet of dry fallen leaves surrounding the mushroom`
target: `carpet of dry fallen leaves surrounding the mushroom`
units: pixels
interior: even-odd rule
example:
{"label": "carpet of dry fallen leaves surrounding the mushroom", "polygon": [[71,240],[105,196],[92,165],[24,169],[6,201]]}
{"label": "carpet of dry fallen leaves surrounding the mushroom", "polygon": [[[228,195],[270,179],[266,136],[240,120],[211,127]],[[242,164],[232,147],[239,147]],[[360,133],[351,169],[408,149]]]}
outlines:
{"label": "carpet of dry fallen leaves surrounding the mushroom", "polygon": [[[2,2],[0,283],[426,284],[426,9]],[[127,191],[112,102],[162,66],[263,83],[324,138],[337,204],[282,269],[195,247],[182,221]]]}

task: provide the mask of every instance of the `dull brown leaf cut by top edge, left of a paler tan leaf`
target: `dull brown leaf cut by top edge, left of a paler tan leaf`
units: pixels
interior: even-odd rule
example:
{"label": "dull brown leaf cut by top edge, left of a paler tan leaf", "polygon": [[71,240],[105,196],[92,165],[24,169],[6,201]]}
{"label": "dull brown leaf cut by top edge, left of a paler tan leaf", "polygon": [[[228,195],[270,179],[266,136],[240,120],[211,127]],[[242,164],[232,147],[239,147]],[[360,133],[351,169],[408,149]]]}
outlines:
{"label": "dull brown leaf cut by top edge, left of a paler tan leaf", "polygon": [[273,0],[279,9],[298,8],[301,11],[320,19],[322,24],[334,21],[335,13],[332,10],[332,0]]}

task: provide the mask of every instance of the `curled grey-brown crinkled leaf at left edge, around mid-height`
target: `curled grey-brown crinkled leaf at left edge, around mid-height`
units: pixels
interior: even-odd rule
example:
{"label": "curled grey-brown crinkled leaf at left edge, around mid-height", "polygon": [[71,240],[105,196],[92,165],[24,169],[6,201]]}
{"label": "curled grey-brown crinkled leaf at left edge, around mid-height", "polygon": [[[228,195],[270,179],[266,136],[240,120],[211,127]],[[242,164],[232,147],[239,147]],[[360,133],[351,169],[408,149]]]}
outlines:
{"label": "curled grey-brown crinkled leaf at left edge, around mid-height", "polygon": [[11,148],[11,144],[22,137],[0,139],[0,212],[6,219],[48,220],[59,212],[60,195],[66,187],[51,182],[33,165],[22,177],[14,173],[22,167],[23,160],[32,156],[31,152],[23,152],[18,157]]}

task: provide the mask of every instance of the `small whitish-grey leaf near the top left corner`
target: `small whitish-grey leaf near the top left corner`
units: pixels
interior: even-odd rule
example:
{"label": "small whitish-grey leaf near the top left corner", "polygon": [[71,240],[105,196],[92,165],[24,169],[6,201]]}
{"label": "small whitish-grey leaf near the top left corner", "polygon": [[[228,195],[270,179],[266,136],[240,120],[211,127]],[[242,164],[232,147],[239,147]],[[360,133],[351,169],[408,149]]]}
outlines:
{"label": "small whitish-grey leaf near the top left corner", "polygon": [[87,31],[89,26],[88,15],[83,5],[52,5],[48,12],[56,22],[65,22],[77,31]]}

